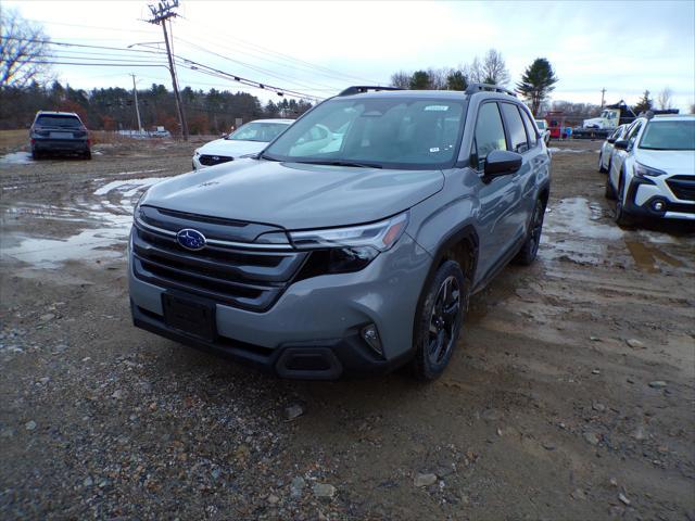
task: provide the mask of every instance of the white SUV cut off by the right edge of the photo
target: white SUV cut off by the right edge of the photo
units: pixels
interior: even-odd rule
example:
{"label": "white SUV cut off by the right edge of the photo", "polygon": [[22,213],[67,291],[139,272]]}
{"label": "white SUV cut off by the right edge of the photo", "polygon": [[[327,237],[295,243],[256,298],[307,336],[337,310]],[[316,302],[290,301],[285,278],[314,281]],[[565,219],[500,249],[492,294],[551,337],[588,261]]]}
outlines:
{"label": "white SUV cut off by the right edge of the photo", "polygon": [[606,196],[616,223],[695,220],[695,116],[642,116],[615,142]]}

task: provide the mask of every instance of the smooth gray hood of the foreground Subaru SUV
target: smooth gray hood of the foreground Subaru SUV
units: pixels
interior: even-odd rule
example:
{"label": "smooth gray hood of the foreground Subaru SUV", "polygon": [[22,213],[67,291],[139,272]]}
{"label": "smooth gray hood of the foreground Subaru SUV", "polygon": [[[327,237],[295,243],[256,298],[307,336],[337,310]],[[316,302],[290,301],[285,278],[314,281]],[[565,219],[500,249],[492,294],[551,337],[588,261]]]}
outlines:
{"label": "smooth gray hood of the foreground Subaru SUV", "polygon": [[142,204],[296,230],[379,220],[443,186],[441,170],[244,158],[162,181],[150,188]]}

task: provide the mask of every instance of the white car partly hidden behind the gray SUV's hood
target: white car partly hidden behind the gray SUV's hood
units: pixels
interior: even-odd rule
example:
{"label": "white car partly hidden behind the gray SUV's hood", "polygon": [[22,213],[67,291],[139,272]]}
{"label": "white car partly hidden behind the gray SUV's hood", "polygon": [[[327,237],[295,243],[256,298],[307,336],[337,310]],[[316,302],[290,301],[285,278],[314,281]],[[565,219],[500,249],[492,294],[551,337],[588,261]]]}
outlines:
{"label": "white car partly hidden behind the gray SUV's hood", "polygon": [[261,152],[294,119],[256,119],[247,123],[222,139],[216,139],[195,150],[193,169],[228,163],[242,155]]}

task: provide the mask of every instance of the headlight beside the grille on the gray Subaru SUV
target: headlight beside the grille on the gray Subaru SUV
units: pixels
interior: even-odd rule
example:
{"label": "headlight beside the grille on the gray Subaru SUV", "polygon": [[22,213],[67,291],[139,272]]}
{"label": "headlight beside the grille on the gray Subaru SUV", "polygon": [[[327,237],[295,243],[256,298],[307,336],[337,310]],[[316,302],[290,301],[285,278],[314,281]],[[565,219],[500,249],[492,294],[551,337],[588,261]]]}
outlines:
{"label": "headlight beside the grille on the gray Subaru SUV", "polygon": [[406,212],[371,225],[290,232],[295,247],[312,250],[300,278],[363,269],[396,243],[407,224]]}

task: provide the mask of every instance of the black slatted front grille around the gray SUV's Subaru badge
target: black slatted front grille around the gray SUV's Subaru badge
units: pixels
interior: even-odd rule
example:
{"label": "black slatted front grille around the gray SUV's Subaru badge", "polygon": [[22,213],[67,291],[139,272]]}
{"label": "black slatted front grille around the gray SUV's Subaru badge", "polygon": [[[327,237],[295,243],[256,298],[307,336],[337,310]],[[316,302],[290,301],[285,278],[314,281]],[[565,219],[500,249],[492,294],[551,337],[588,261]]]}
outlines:
{"label": "black slatted front grille around the gray SUV's Subaru badge", "polygon": [[[237,242],[244,236],[255,238],[268,229],[266,225],[239,221],[224,225],[219,223],[222,219],[205,217],[184,224],[181,215],[191,216],[141,208],[132,236],[132,267],[138,279],[228,306],[264,312],[289,287],[307,256],[305,252],[282,250],[281,245],[252,249],[251,241],[247,241],[250,247]],[[200,230],[215,244],[208,243],[195,252],[185,250],[176,240],[176,232],[189,227]]]}

